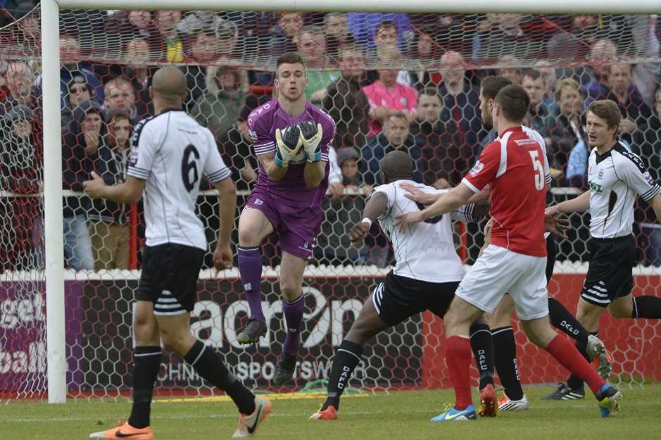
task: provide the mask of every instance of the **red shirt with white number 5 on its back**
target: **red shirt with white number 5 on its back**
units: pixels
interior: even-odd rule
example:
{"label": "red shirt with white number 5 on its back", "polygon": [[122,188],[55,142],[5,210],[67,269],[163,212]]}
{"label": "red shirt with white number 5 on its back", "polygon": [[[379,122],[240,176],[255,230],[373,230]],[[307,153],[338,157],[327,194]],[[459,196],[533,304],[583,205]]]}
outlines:
{"label": "red shirt with white number 5 on its back", "polygon": [[550,172],[541,134],[510,127],[487,145],[462,180],[475,192],[491,184],[491,243],[529,256],[546,256],[544,209]]}

